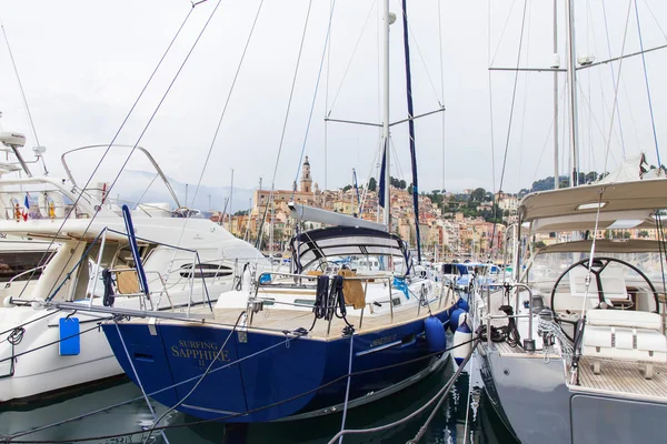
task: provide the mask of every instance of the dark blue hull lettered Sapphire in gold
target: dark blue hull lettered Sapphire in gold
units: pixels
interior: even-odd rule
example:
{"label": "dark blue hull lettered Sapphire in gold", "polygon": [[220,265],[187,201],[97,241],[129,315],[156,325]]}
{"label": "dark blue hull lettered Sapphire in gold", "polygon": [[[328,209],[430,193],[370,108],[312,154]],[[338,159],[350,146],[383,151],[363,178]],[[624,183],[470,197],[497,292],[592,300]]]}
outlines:
{"label": "dark blue hull lettered Sapphire in gold", "polygon": [[[448,317],[447,311],[436,315],[440,321]],[[147,393],[195,379],[152,395],[167,406],[177,404],[190,392],[230,332],[229,327],[180,323],[157,324],[157,334],[151,335],[146,324],[118,325]],[[120,365],[137,383],[116,324],[106,324],[103,329]],[[352,372],[370,371],[428,355],[431,352],[424,332],[424,320],[416,320],[355,335]],[[251,330],[247,332],[247,342],[241,342],[238,332],[235,332],[219,363],[213,364],[211,373],[178,410],[201,418],[226,422],[268,422],[309,413],[327,413],[331,406],[342,403],[347,379],[316,389],[348,373],[350,339],[322,341],[299,337],[292,340],[289,347],[282,344],[285,339],[280,333]],[[395,341],[402,343],[381,349],[381,345]],[[281,345],[220,369],[276,344]],[[434,360],[422,359],[354,376],[350,401],[362,400],[391,387],[427,370]]]}

